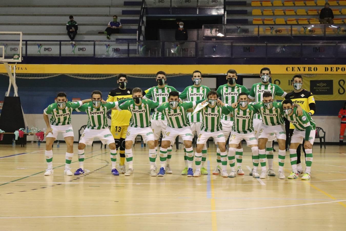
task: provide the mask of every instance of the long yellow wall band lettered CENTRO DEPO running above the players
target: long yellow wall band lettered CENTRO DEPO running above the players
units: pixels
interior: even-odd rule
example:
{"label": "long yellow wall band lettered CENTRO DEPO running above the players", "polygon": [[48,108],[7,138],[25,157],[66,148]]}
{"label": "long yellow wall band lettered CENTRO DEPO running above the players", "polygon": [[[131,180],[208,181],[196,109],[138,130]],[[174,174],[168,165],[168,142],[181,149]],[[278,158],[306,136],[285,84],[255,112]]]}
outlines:
{"label": "long yellow wall band lettered CENTRO DEPO running above the players", "polygon": [[[101,64],[18,64],[17,73],[69,73],[69,74],[191,74],[194,70],[205,73],[226,73],[235,69],[239,74],[259,74],[263,67],[272,74],[346,74],[346,65],[101,65]],[[0,73],[7,73],[0,65]]]}

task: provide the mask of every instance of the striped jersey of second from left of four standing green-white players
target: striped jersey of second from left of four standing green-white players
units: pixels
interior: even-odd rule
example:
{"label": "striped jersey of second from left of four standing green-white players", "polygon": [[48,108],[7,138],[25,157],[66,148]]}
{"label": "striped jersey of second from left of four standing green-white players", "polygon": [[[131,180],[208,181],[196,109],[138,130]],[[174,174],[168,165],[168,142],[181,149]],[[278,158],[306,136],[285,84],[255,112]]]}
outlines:
{"label": "striped jersey of second from left of four standing green-white players", "polygon": [[[180,93],[179,97],[181,99],[187,99],[188,101],[197,101],[207,98],[207,94],[210,91],[209,87],[201,85],[199,87],[189,86],[186,87],[183,92]],[[190,122],[202,122],[202,115],[200,112],[191,115],[188,113],[188,118]]]}

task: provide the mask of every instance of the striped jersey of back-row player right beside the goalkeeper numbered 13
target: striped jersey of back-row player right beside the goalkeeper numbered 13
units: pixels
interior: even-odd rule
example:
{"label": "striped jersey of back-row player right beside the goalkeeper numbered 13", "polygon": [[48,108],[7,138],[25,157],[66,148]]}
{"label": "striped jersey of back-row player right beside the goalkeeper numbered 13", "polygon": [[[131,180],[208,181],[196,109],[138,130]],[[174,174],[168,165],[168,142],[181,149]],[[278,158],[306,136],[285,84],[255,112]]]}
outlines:
{"label": "striped jersey of back-row player right beside the goalkeeper numbered 13", "polygon": [[[164,103],[168,102],[168,95],[171,91],[177,91],[174,87],[165,86],[164,88],[152,87],[149,91],[144,95],[143,99],[153,98],[154,102]],[[166,117],[161,112],[153,112],[152,115],[153,120],[166,120]]]}

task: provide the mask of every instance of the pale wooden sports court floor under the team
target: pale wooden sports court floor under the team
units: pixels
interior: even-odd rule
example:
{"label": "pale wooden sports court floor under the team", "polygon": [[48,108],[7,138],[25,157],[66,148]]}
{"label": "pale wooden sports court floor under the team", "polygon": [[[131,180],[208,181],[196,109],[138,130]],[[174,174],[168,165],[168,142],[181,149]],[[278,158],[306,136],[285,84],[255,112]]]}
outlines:
{"label": "pale wooden sports court floor under the team", "polygon": [[[133,176],[110,174],[109,150],[85,149],[84,176],[64,176],[65,144],[53,149],[53,176],[44,144],[0,146],[0,230],[345,230],[346,146],[313,148],[311,180],[180,175],[183,152],[173,150],[173,174],[149,176],[146,148],[136,144]],[[277,145],[275,146],[277,148]],[[274,148],[275,148],[274,147]],[[74,145],[76,152],[77,145]],[[285,175],[290,172],[286,154]],[[160,166],[157,158],[157,165]],[[72,171],[78,167],[75,154]],[[302,160],[304,163],[305,161]],[[277,152],[274,170],[277,173]],[[230,167],[228,166],[228,172]],[[301,176],[300,176],[301,177]]]}

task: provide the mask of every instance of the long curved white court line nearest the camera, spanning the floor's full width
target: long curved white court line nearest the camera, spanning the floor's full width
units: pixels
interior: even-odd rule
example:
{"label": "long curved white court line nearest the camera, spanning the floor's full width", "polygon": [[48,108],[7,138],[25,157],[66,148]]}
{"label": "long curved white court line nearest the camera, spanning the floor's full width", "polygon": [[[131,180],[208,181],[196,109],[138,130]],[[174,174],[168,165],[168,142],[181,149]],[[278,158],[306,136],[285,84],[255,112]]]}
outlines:
{"label": "long curved white court line nearest the camera, spanning the floor's full width", "polygon": [[0,219],[12,219],[12,218],[64,218],[64,217],[102,217],[102,216],[140,216],[140,215],[164,215],[164,214],[188,214],[188,213],[210,213],[210,212],[229,212],[229,211],[242,211],[242,210],[257,210],[267,208],[286,208],[286,207],[297,207],[307,205],[318,205],[318,204],[329,204],[336,202],[343,202],[346,200],[339,201],[327,201],[307,204],[295,204],[295,205],[281,205],[281,206],[270,206],[270,207],[255,207],[255,208],[235,208],[227,210],[204,210],[204,211],[183,211],[183,212],[166,212],[166,213],[129,213],[129,214],[103,214],[103,215],[72,215],[72,216],[0,216]]}

